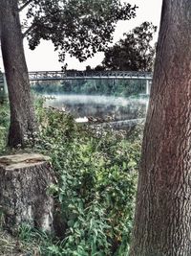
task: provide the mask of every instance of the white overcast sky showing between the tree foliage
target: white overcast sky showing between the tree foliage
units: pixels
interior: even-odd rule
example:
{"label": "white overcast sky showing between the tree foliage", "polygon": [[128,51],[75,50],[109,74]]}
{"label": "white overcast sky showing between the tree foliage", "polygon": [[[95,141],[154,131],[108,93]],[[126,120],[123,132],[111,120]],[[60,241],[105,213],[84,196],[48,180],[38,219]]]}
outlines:
{"label": "white overcast sky showing between the tree foliage", "polygon": [[[129,32],[144,21],[153,22],[159,28],[159,19],[162,0],[123,0],[132,5],[137,5],[137,17],[128,21],[119,21],[114,35],[114,42],[117,42],[124,33]],[[156,38],[157,40],[157,38]],[[24,42],[25,54],[29,71],[38,70],[61,70],[62,63],[58,62],[57,53],[53,51],[53,44],[49,41],[41,41],[34,50],[29,50],[27,40]],[[98,53],[94,58],[90,58],[80,63],[76,58],[66,58],[68,69],[84,70],[87,65],[95,67],[100,64],[104,57],[103,53]],[[2,58],[0,55],[0,69],[3,70]]]}

